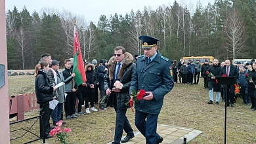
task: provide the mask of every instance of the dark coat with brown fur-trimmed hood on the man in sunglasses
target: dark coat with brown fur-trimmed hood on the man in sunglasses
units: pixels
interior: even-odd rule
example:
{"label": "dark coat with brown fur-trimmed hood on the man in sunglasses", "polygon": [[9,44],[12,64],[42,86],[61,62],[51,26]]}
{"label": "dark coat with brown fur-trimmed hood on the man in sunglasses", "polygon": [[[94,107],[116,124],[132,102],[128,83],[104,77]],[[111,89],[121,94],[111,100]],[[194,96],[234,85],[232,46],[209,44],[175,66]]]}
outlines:
{"label": "dark coat with brown fur-trimmed hood on the man in sunglasses", "polygon": [[[131,79],[134,74],[135,69],[135,63],[133,63],[133,55],[131,55],[129,52],[125,53],[125,59],[123,60],[123,65],[121,69],[119,70],[118,74],[118,80],[123,84],[123,88],[121,89],[121,92],[116,93],[116,97],[114,96],[114,92],[110,94],[110,97],[108,98],[108,105],[111,105],[114,102],[114,98],[116,98],[117,101],[117,109],[127,109],[129,108],[129,105],[125,105],[131,97],[129,93],[129,88],[131,85]],[[116,60],[114,57],[110,58],[108,61],[108,73],[106,75],[106,78],[104,80],[104,89],[110,88],[112,90],[114,86],[114,77],[116,71]]]}

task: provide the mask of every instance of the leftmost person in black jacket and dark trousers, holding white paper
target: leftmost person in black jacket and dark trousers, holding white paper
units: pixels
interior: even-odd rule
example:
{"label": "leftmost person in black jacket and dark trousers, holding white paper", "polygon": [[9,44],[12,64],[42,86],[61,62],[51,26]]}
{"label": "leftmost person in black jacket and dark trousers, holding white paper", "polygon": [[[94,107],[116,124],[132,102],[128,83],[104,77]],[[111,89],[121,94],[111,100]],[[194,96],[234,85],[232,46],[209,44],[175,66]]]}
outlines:
{"label": "leftmost person in black jacket and dark trousers, holding white paper", "polygon": [[[53,97],[53,92],[56,90],[50,84],[50,80],[47,77],[47,71],[49,70],[49,63],[40,62],[35,66],[35,94],[37,96],[37,103],[40,106],[40,114],[43,118],[40,118],[40,137],[50,138],[51,131],[50,117],[51,111],[49,108],[49,101],[52,101],[56,97]],[[44,125],[44,126],[43,126]]]}

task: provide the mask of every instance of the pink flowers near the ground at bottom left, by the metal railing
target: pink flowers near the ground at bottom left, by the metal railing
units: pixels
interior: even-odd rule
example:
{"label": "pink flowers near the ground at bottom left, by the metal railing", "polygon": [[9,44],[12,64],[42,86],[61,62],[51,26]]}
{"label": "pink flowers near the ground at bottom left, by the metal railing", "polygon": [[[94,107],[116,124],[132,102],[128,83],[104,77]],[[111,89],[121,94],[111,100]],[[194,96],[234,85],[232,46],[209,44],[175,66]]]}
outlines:
{"label": "pink flowers near the ground at bottom left, by the metal railing", "polygon": [[58,142],[67,144],[66,137],[68,137],[68,132],[71,132],[70,128],[64,128],[62,129],[62,122],[63,120],[60,120],[56,123],[56,127],[51,130],[50,135],[56,137],[55,144]]}

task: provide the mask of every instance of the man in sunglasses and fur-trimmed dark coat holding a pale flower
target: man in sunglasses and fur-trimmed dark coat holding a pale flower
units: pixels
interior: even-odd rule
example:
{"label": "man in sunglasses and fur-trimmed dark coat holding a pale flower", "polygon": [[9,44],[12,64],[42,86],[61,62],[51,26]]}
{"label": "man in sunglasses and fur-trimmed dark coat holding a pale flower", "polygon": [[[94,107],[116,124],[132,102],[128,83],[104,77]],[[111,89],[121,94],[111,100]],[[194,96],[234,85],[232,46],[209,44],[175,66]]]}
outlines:
{"label": "man in sunglasses and fur-trimmed dark coat holding a pale flower", "polygon": [[[126,52],[122,46],[117,46],[114,50],[114,55],[108,62],[108,72],[104,81],[104,90],[110,96],[107,107],[108,105],[114,105],[116,111],[116,129],[114,141],[112,142],[115,144],[119,144],[120,141],[121,143],[126,143],[135,136],[131,124],[126,117],[129,105],[125,105],[130,100],[129,87],[134,73],[133,69],[135,69],[133,55]],[[121,82],[118,88],[114,86],[116,81]],[[124,139],[121,139],[123,130],[125,130],[127,135]]]}

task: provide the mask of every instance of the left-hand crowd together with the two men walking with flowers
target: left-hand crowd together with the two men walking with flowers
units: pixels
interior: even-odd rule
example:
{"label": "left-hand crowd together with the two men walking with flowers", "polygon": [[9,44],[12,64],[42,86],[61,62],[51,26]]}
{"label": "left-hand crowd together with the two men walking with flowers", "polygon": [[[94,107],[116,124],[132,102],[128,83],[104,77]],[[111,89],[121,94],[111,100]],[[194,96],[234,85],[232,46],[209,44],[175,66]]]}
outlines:
{"label": "left-hand crowd together with the two men walking with flowers", "polygon": [[[77,85],[74,81],[73,58],[64,61],[64,69],[59,70],[57,60],[52,60],[50,54],[43,54],[35,67],[35,93],[37,103],[40,105],[40,136],[51,138],[49,132],[50,117],[53,125],[59,120],[77,118],[79,115],[98,111],[95,105],[99,104],[100,110],[114,107],[116,111],[115,136],[112,143],[125,143],[135,137],[131,124],[126,117],[130,107],[132,92],[145,90],[146,95],[135,102],[135,125],[141,134],[146,137],[146,143],[161,143],[163,137],[156,133],[158,115],[163,105],[165,94],[173,89],[174,81],[169,68],[171,62],[158,52],[157,43],[160,41],[146,35],[140,36],[144,55],[135,54],[135,58],[126,52],[122,46],[114,48],[114,55],[110,60],[92,60],[91,63],[83,60],[85,66],[86,82]],[[57,84],[64,82],[62,86]],[[121,87],[115,85],[121,83]],[[98,99],[98,90],[100,100]],[[108,98],[103,100],[105,96]],[[58,101],[54,109],[49,108],[53,99]],[[78,99],[78,107],[75,102]],[[85,112],[82,107],[85,107]],[[64,108],[64,111],[63,111]],[[66,124],[63,122],[62,124]],[[121,139],[123,130],[126,137]]]}

